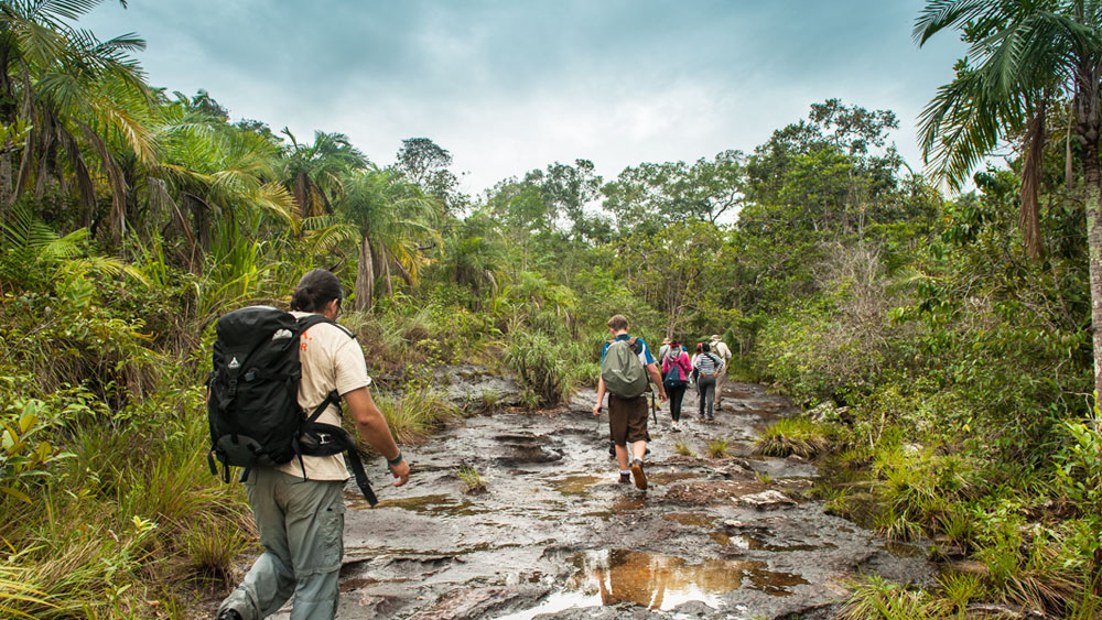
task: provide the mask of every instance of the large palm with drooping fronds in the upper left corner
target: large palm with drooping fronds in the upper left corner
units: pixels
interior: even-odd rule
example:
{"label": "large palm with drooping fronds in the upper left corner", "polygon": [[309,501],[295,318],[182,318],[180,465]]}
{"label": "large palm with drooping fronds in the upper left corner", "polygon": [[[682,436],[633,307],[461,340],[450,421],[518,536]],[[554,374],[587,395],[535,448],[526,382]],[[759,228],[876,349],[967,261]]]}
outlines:
{"label": "large palm with drooping fronds in the upper left corner", "polygon": [[119,240],[126,230],[127,187],[114,148],[147,162],[153,157],[144,76],[129,56],[145,43],[133,34],[99,41],[66,22],[100,3],[0,2],[0,122],[31,126],[18,173],[13,155],[19,149],[8,141],[0,149],[0,207],[32,184],[36,196],[52,181],[65,188],[68,173],[90,219],[96,206],[90,155],[111,187],[109,232]]}

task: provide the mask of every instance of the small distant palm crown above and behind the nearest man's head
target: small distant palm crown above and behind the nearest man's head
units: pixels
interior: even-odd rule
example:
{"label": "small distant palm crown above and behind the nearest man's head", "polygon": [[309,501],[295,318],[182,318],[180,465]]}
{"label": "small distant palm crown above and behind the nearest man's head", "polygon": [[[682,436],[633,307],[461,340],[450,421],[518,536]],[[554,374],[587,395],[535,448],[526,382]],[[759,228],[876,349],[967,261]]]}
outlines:
{"label": "small distant palm crown above and behind the nearest man's head", "polygon": [[299,217],[332,214],[332,200],[343,192],[343,180],[366,168],[367,157],[343,133],[315,131],[313,144],[300,144],[285,127],[282,133],[291,141],[284,152],[284,187],[294,196]]}

